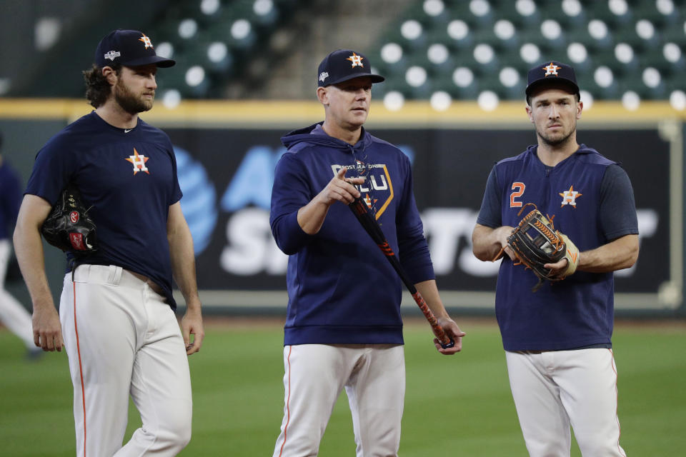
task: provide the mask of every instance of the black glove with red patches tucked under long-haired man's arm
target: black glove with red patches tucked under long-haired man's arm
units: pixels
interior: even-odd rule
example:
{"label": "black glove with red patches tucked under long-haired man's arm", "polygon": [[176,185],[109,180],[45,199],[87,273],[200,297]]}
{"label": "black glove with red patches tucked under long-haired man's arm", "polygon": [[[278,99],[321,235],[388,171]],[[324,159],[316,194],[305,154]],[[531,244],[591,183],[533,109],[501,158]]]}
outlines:
{"label": "black glove with red patches tucked under long-haired man's arm", "polygon": [[87,212],[76,186],[66,186],[41,227],[45,241],[81,256],[97,251],[95,223]]}

